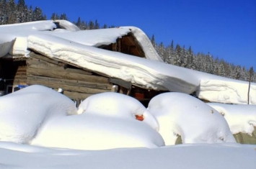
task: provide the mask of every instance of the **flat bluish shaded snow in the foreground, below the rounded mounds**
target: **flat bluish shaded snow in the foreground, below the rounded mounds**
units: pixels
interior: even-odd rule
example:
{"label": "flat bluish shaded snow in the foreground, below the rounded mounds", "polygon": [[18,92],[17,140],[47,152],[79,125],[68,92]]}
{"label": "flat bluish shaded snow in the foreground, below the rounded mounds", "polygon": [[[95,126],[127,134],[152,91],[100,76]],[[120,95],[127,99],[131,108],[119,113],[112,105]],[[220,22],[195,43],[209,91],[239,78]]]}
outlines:
{"label": "flat bluish shaded snow in the foreground, below the rounded mounds", "polygon": [[60,150],[0,142],[0,168],[255,169],[255,145],[196,144],[156,149]]}

